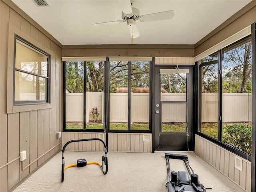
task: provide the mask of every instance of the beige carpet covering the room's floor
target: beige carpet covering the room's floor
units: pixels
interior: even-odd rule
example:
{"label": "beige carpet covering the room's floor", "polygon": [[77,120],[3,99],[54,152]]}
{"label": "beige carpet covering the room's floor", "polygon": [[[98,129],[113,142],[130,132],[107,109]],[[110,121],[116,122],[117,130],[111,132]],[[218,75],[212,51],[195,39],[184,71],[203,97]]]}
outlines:
{"label": "beige carpet covering the room's floor", "polygon": [[[226,176],[210,166],[194,152],[169,152],[188,155],[190,166],[198,174],[207,192],[244,192]],[[104,152],[65,152],[65,166],[85,158],[87,162],[102,163]],[[164,152],[108,154],[108,173],[90,164],[82,168],[71,167],[64,172],[61,182],[62,153],[32,174],[14,192],[168,192],[167,168]],[[186,167],[182,160],[170,160],[171,171]]]}

